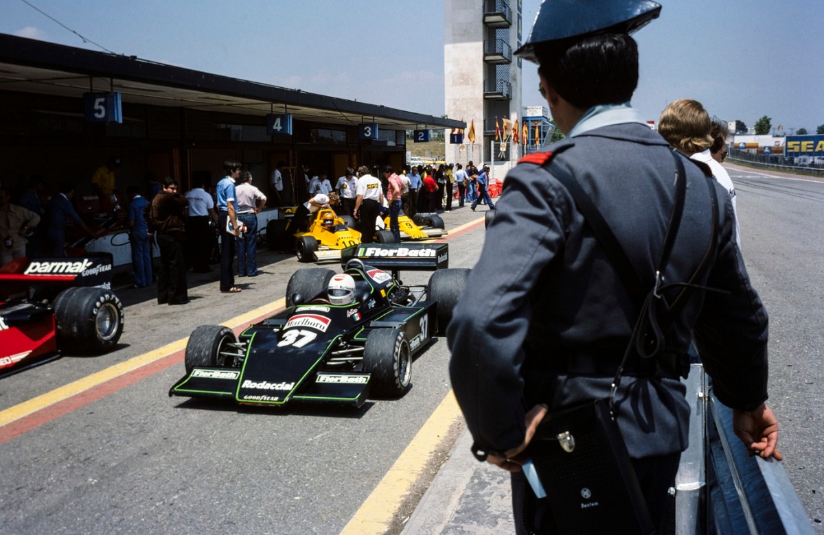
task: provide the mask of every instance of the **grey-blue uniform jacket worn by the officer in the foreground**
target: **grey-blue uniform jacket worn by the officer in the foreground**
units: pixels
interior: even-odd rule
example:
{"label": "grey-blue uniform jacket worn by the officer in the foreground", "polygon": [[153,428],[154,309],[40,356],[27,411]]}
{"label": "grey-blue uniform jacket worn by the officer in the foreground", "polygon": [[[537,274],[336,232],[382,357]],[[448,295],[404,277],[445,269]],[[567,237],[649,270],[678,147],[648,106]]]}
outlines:
{"label": "grey-blue uniform jacket worn by the officer in the foreground", "polygon": [[[554,410],[606,398],[611,374],[566,374],[551,370],[554,359],[586,353],[617,363],[638,314],[569,192],[550,174],[551,161],[590,194],[649,287],[672,212],[671,151],[642,124],[595,128],[545,150],[555,155],[550,161],[521,163],[507,175],[447,328],[455,395],[475,443],[487,451],[521,444],[525,408],[536,403]],[[695,333],[719,399],[751,409],[767,397],[767,314],[733,238],[728,193],[678,157],[686,205],[666,281],[686,281],[709,251],[709,268],[695,282],[729,293],[694,292],[667,333],[667,349],[686,353]],[[708,184],[719,202],[713,243]],[[686,448],[689,407],[677,380],[624,376],[616,407],[633,458]]]}

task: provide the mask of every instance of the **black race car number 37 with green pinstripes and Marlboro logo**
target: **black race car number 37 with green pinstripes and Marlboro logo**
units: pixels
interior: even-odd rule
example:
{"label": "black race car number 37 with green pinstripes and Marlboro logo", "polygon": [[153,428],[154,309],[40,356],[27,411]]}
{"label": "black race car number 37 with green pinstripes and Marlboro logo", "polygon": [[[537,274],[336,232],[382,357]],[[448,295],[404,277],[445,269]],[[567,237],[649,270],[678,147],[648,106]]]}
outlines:
{"label": "black race car number 37 with green pinstripes and Marlboro logo", "polygon": [[[236,338],[202,325],[186,345],[186,375],[170,396],[241,404],[337,402],[360,407],[370,395],[402,396],[413,356],[443,333],[468,269],[445,269],[447,244],[362,244],[345,249],[354,300],[334,305],[331,269],[301,269],[289,279],[287,308]],[[440,269],[439,269],[440,268]],[[437,270],[428,285],[407,286],[398,273]],[[389,270],[387,272],[385,270]]]}

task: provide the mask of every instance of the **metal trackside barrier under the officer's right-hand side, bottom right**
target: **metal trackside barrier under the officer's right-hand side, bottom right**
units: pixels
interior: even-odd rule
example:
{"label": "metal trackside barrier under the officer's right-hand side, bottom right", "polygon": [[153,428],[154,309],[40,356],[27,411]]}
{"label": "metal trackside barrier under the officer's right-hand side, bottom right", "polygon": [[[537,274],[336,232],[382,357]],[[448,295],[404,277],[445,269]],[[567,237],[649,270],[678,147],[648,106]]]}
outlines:
{"label": "metal trackside barrier under the officer's right-hand side, bottom right", "polygon": [[676,477],[676,533],[815,533],[784,466],[747,454],[701,365],[691,365],[686,386],[693,417]]}

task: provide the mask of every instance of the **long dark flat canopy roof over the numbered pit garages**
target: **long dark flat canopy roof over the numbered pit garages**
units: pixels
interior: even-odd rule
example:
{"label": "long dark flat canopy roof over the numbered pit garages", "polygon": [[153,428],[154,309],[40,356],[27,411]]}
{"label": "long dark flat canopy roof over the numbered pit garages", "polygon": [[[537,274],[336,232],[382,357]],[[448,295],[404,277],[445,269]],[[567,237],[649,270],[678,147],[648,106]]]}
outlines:
{"label": "long dark flat canopy roof over the numbered pit garages", "polygon": [[0,90],[82,99],[92,84],[93,91],[118,91],[124,102],[143,105],[258,117],[274,105],[274,113],[285,109],[294,119],[321,123],[466,128],[463,121],[0,34]]}

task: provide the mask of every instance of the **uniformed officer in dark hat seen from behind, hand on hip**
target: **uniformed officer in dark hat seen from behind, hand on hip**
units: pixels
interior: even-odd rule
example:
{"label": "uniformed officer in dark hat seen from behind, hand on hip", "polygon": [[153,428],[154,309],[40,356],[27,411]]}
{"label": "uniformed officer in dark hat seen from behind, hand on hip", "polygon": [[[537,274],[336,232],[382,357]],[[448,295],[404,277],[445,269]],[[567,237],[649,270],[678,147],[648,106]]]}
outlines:
{"label": "uniformed officer in dark hat seen from behind, hand on hip", "polygon": [[[480,259],[447,327],[452,387],[473,453],[512,472],[516,533],[527,527],[553,533],[555,517],[568,513],[536,499],[521,471],[525,450],[547,413],[610,395],[639,298],[655,286],[676,205],[677,162],[687,187],[663,277],[700,287],[663,291],[667,306],[680,301],[663,333],[666,351],[645,361],[629,352],[614,397],[616,423],[660,529],[667,490],[688,445],[690,406],[679,379],[689,370],[687,350],[695,340],[715,395],[733,408],[744,447],[781,458],[778,423],[765,404],[767,314],[734,239],[729,195],[706,168],[672,151],[629,104],[639,72],[630,33],[660,10],[640,0],[545,0],[517,51],[538,63],[541,92],[566,138],[524,156],[508,173]],[[612,265],[613,255],[560,174],[597,207],[641,291],[625,289],[620,273],[626,271]],[[616,529],[606,524],[603,531]]]}

